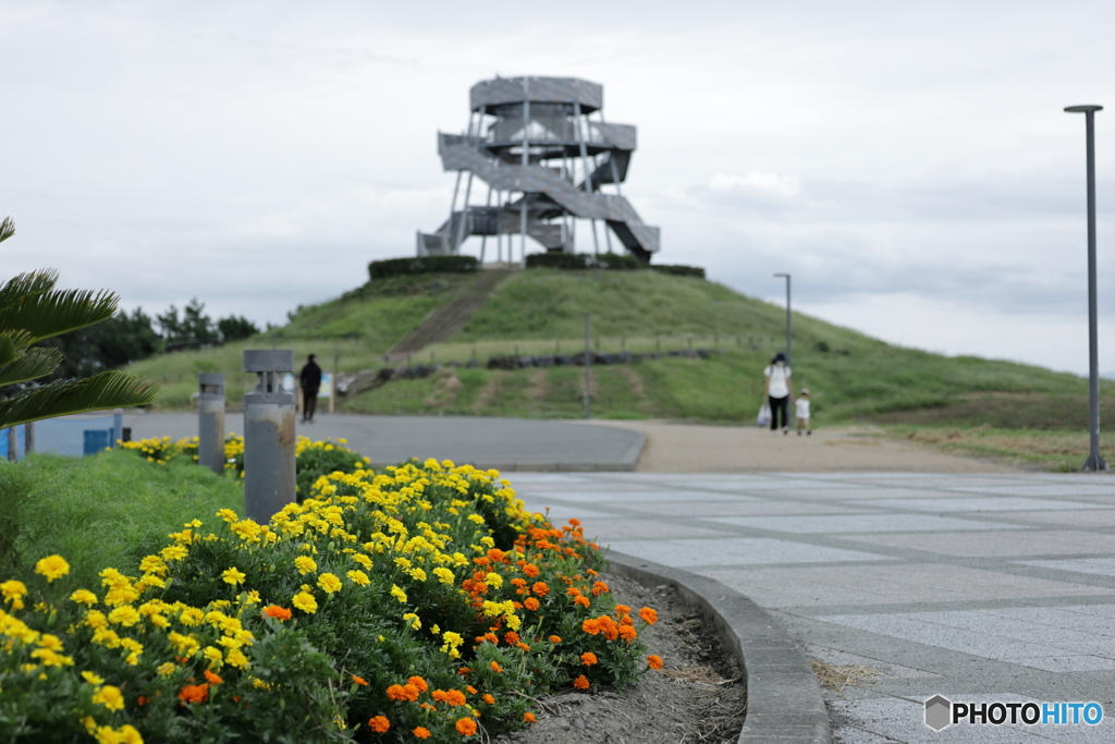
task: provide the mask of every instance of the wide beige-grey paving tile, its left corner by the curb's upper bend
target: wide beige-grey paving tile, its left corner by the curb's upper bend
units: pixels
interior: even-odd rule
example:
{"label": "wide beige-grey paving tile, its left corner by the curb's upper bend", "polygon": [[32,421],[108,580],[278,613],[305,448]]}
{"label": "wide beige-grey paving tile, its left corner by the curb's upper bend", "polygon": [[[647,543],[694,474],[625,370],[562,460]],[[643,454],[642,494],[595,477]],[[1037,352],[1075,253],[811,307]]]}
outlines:
{"label": "wide beige-grey paving tile, its left corner by the curb's upper bend", "polygon": [[1109,591],[966,567],[862,564],[698,572],[772,608],[1079,597]]}

